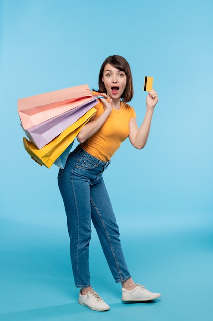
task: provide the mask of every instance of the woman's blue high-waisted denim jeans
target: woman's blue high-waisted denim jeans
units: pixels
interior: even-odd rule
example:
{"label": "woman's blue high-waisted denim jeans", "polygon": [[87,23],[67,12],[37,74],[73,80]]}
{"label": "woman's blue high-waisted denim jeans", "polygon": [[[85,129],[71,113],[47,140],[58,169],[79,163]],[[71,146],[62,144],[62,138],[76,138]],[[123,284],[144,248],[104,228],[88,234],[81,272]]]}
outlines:
{"label": "woman's blue high-waisted denim jeans", "polygon": [[59,170],[58,185],[64,201],[70,236],[70,254],[77,288],[89,287],[91,220],[115,282],[129,279],[119,239],[119,229],[102,173],[110,162],[88,154],[80,145]]}

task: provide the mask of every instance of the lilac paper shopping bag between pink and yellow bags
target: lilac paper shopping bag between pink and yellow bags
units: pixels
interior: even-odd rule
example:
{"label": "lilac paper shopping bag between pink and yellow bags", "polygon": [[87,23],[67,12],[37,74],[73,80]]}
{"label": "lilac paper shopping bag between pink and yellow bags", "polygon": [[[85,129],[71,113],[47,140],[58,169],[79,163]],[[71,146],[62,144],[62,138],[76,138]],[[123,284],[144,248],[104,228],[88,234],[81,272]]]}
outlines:
{"label": "lilac paper shopping bag between pink and yellow bags", "polygon": [[43,146],[61,134],[62,131],[74,124],[97,103],[97,99],[92,97],[89,102],[79,105],[74,109],[68,110],[62,115],[56,116],[48,121],[26,129],[26,136],[36,145],[36,147],[41,149]]}

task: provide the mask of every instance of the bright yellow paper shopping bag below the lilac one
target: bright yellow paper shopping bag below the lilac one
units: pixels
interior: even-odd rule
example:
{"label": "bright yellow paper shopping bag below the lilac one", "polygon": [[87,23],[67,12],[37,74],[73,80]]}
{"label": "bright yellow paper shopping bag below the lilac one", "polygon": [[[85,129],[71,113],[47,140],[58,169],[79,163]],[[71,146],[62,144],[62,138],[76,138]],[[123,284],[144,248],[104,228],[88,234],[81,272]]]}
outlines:
{"label": "bright yellow paper shopping bag below the lilac one", "polygon": [[78,121],[65,129],[58,137],[46,144],[43,148],[38,149],[32,142],[23,137],[23,144],[26,151],[40,165],[50,168],[56,159],[66,150],[66,148],[74,141],[81,128],[91,119],[97,112],[96,108],[91,108]]}

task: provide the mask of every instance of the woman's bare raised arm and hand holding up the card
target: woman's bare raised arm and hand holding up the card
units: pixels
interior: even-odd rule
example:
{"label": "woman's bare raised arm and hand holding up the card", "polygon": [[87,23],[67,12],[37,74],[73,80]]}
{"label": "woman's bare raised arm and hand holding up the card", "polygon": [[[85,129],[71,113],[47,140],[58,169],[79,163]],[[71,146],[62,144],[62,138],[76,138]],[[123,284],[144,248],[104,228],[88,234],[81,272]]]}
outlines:
{"label": "woman's bare raised arm and hand holding up the card", "polygon": [[149,137],[152,116],[154,112],[154,107],[158,102],[158,96],[154,89],[152,89],[146,98],[147,110],[144,117],[144,121],[140,128],[138,128],[136,123],[136,118],[131,118],[129,122],[129,139],[131,144],[138,149],[144,148]]}

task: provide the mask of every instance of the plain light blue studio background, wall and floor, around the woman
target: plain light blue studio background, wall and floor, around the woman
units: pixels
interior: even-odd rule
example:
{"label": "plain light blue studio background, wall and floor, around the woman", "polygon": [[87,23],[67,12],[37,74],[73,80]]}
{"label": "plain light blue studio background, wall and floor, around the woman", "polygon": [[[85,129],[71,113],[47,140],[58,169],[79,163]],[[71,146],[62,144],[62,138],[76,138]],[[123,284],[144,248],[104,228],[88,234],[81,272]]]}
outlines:
{"label": "plain light blue studio background, wall and floor, around the woman", "polygon": [[[210,320],[212,1],[0,4],[0,319]],[[145,75],[159,95],[146,147],[125,141],[104,177],[133,278],[162,299],[121,304],[93,233],[93,286],[111,306],[97,314],[76,303],[58,167],[40,167],[26,153],[17,100],[81,84],[97,88],[101,64],[113,54],[130,63],[138,125]]]}

